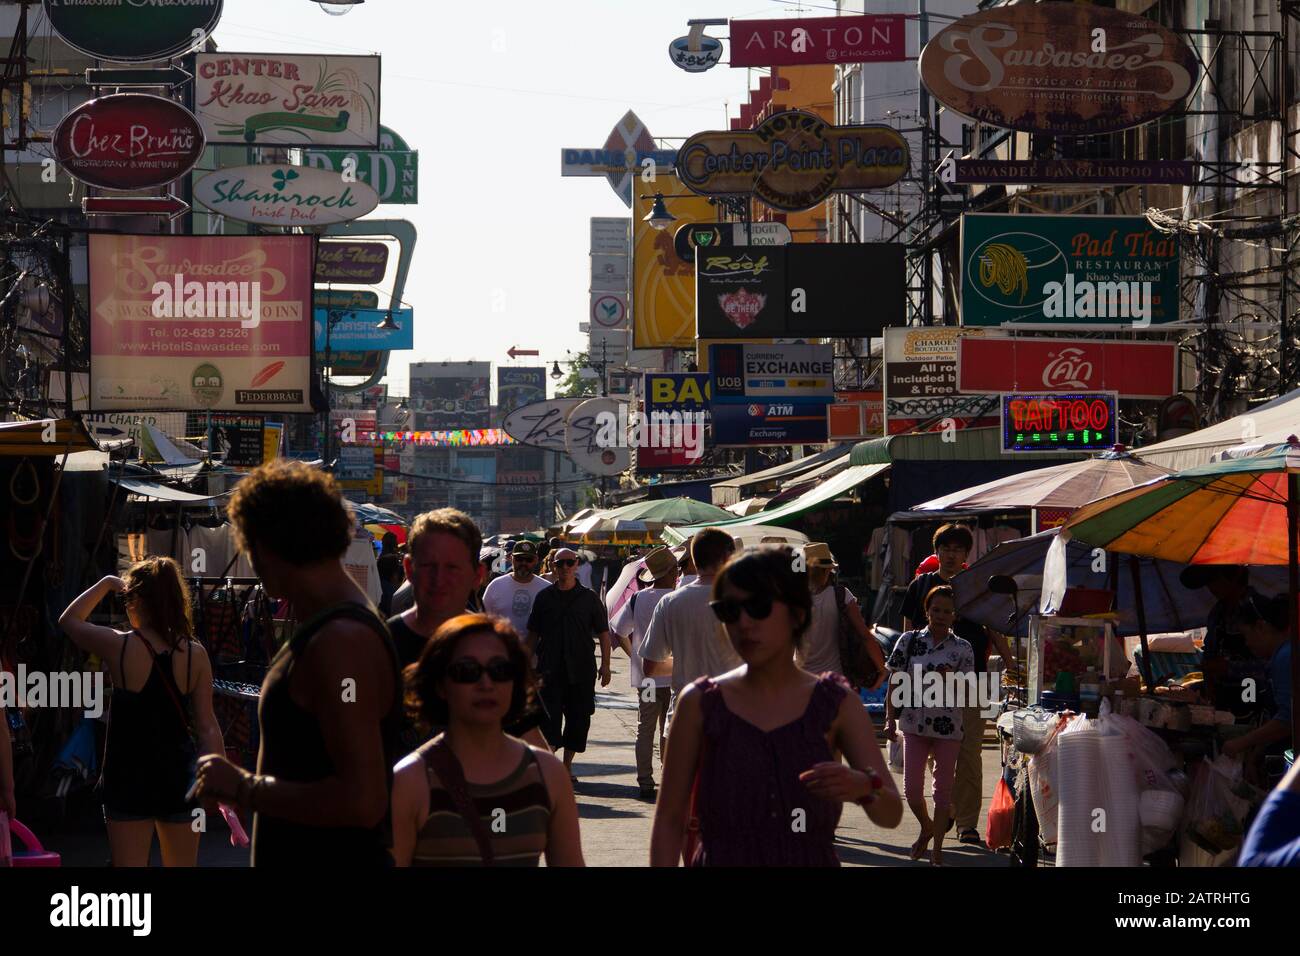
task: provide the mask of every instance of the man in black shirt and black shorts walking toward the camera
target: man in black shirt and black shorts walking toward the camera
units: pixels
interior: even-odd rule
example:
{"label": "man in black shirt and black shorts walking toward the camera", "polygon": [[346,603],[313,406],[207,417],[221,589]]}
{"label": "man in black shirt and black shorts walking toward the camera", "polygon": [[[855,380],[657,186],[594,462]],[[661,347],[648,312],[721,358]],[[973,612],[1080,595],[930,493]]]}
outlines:
{"label": "man in black shirt and black shorts walking toward the camera", "polygon": [[573,754],[586,749],[595,713],[595,658],[601,643],[601,687],[610,684],[610,622],[604,604],[577,583],[577,553],[555,551],[555,584],[538,592],[528,617],[528,646],[537,654],[542,679],[542,724],[551,748],[564,748],[564,766],[573,773]]}

